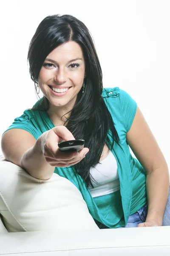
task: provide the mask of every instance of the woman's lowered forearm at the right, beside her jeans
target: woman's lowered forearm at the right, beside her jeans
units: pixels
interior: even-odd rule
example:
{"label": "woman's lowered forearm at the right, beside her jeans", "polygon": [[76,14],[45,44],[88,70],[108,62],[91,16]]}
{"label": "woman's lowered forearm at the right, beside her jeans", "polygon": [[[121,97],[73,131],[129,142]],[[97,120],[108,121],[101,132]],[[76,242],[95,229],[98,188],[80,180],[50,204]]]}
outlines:
{"label": "woman's lowered forearm at the right, beside her jeans", "polygon": [[148,200],[148,212],[146,221],[154,220],[160,226],[167,204],[170,187],[168,168],[165,165],[147,175],[146,189]]}

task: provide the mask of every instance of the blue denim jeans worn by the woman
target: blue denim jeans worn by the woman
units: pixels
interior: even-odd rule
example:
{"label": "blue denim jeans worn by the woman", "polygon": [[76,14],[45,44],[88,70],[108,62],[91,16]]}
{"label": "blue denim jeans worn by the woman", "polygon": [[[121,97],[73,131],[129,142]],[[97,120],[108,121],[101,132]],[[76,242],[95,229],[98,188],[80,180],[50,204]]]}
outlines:
{"label": "blue denim jeans worn by the woman", "polygon": [[[129,216],[125,227],[137,227],[139,223],[142,223],[146,220],[146,216],[147,216],[147,204],[145,204],[141,209],[139,209],[139,211]],[[167,200],[167,206],[164,212],[162,226],[170,226],[170,189],[169,189],[169,196]],[[109,228],[102,223],[98,224],[98,227],[100,229]],[[124,227],[119,227],[119,228],[124,228]]]}

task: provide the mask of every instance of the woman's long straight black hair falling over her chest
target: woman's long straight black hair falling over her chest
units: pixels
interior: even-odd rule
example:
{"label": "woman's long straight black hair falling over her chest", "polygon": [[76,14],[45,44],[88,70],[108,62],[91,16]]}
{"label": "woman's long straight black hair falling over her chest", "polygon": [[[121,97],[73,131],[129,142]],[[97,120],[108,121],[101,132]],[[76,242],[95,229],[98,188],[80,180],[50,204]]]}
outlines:
{"label": "woman's long straight black hair falling over her chest", "polygon": [[[114,140],[119,143],[119,136],[108,108],[102,98],[102,69],[96,53],[93,39],[82,21],[72,15],[50,15],[42,20],[31,39],[28,50],[29,71],[35,88],[38,84],[40,69],[47,55],[60,44],[75,41],[81,47],[85,59],[85,91],[77,95],[74,108],[64,125],[75,139],[85,140],[89,153],[74,165],[76,172],[92,186],[93,177],[90,168],[99,163],[105,143],[109,143],[108,130]],[[48,99],[43,96],[40,104],[48,111]],[[42,107],[40,110],[42,111]],[[39,105],[31,110],[38,110]],[[110,148],[113,147],[110,145]],[[94,180],[94,179],[93,179]]]}

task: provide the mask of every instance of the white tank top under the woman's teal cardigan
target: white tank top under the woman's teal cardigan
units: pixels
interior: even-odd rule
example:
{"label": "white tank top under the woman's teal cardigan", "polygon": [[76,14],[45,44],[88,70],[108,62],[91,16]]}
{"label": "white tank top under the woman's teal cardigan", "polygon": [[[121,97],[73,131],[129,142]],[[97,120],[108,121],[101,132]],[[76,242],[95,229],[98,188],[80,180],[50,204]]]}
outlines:
{"label": "white tank top under the woman's teal cardigan", "polygon": [[120,189],[119,175],[117,172],[117,162],[114,155],[109,151],[108,156],[90,169],[94,188],[89,186],[92,197],[108,195]]}

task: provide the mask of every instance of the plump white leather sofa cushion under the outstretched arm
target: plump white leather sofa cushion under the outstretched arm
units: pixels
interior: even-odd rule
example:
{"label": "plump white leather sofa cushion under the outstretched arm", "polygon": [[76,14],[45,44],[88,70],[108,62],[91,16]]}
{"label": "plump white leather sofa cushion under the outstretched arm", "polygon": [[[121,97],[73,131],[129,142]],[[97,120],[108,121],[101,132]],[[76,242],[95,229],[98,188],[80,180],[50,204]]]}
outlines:
{"label": "plump white leather sofa cushion under the outstretched arm", "polygon": [[9,232],[99,229],[69,180],[40,180],[8,161],[0,162],[0,214]]}

